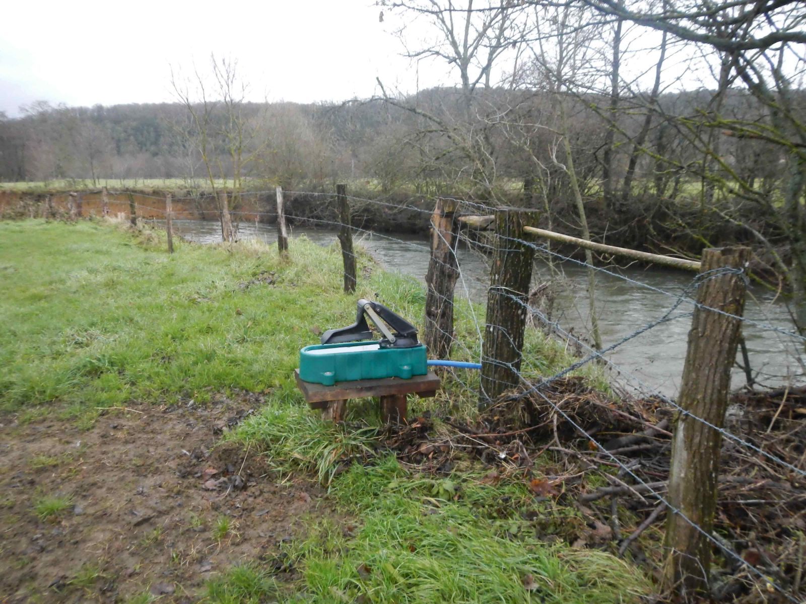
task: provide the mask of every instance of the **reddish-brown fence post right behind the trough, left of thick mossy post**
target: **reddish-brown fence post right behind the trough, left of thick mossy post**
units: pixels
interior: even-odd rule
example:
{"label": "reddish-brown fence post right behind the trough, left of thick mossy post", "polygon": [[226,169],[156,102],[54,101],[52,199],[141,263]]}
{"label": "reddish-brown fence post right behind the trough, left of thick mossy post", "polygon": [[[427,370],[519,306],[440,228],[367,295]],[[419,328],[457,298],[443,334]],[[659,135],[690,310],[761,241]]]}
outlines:
{"label": "reddish-brown fence post right behind the trough, left of thick mossy post", "polygon": [[452,199],[438,199],[431,216],[431,259],[426,273],[425,343],[434,358],[448,358],[453,343],[453,300],[459,262],[456,243],[459,204]]}

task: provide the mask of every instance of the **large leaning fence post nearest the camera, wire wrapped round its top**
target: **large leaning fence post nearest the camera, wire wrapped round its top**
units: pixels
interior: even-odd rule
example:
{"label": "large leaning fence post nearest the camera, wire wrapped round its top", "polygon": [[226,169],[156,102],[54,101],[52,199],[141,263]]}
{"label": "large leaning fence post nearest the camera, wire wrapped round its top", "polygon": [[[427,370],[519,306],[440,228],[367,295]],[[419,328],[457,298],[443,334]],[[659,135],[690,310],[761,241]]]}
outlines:
{"label": "large leaning fence post nearest the camera, wire wrapped round its top", "polygon": [[[705,590],[711,564],[713,516],[722,434],[745,306],[750,248],[703,251],[697,306],[678,397],[669,471],[667,557],[663,578],[675,590]],[[733,270],[730,270],[733,269]],[[708,308],[706,308],[708,307]],[[714,312],[710,308],[715,308]],[[724,314],[728,313],[728,314]],[[706,424],[707,423],[707,424]]]}

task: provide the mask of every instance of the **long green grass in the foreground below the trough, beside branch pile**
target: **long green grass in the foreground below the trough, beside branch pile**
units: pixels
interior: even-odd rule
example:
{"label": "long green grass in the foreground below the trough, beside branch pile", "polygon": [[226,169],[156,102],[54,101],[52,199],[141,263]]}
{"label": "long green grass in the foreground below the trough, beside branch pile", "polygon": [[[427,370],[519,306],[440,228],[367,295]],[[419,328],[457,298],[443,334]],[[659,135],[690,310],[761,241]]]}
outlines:
{"label": "long green grass in the foreground below the trough, beside branch pile", "polygon": [[512,499],[529,499],[525,486],[433,481],[388,457],[354,465],[331,492],[361,526],[350,534],[323,520],[289,548],[303,576],[289,601],[605,604],[649,593],[608,553],[538,540]]}

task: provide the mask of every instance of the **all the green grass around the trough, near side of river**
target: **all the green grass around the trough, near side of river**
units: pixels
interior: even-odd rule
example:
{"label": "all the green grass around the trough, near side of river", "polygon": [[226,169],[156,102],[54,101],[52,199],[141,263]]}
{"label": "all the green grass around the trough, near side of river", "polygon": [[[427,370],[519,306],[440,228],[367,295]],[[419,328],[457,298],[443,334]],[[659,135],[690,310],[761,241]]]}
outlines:
{"label": "all the green grass around the trough, near side of river", "polygon": [[[289,259],[278,259],[265,246],[180,243],[169,255],[163,237],[89,221],[0,223],[0,412],[90,428],[105,407],[262,393],[264,408],[226,438],[260,452],[278,480],[326,485],[340,513],[284,546],[296,578],[232,561],[209,581],[207,601],[604,604],[648,593],[642,573],[609,553],[540,540],[527,507],[559,523],[581,520],[570,507],[534,503],[522,481],[491,482],[475,465],[434,478],[393,456],[336,471],[345,453],[376,449],[378,418],[354,405],[347,424],[322,423],[293,384],[298,350],[351,323],[358,296],[419,323],[424,293],[413,279],[362,256],[358,292],[347,296],[334,247],[294,239]],[[459,305],[457,330],[477,350],[469,312]],[[569,361],[538,333],[528,354],[549,371]],[[473,388],[472,377],[448,382],[434,405],[472,416]],[[42,503],[39,514],[57,515],[53,507]]]}

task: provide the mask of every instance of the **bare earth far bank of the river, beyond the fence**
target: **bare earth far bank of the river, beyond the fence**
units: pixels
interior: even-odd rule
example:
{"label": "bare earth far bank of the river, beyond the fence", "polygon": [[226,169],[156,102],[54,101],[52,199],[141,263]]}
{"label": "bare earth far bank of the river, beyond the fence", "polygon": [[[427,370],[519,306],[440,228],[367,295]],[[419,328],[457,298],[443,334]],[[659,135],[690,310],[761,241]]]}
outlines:
{"label": "bare earth far bank of the river, beyond the fence", "polygon": [[[165,212],[167,192],[132,192],[136,213],[147,220],[162,219]],[[172,191],[172,211],[176,218],[218,221],[218,206],[209,193]],[[69,192],[16,192],[0,191],[0,217],[38,217],[43,215],[47,195],[52,196],[52,205],[59,216],[68,209]],[[426,234],[430,228],[430,213],[434,209],[434,197],[413,195],[408,192],[393,192],[380,195],[378,192],[350,192],[352,223],[365,230],[384,233]],[[78,216],[99,216],[101,193],[81,192],[77,197]],[[475,203],[475,202],[474,202]],[[512,192],[507,200],[517,207],[540,207],[542,201],[526,199],[522,192]],[[128,216],[130,199],[127,192],[109,193],[110,212]],[[276,197],[274,192],[246,192],[239,199],[231,199],[233,221],[276,223]],[[476,213],[489,210],[469,206]],[[332,228],[339,223],[334,192],[286,192],[285,211],[293,224]],[[466,209],[463,213],[468,213]],[[551,203],[553,221],[545,213],[540,217],[542,228],[551,228],[563,234],[580,236],[576,210],[570,200],[558,199]],[[771,270],[773,259],[767,250],[758,248],[750,230],[725,221],[718,213],[703,213],[699,205],[685,200],[634,200],[628,204],[603,208],[597,201],[587,204],[588,225],[596,241],[634,250],[659,254],[675,254],[697,258],[709,246],[748,245],[754,246],[756,254],[751,270],[762,279],[775,283]],[[779,233],[775,225],[763,216],[746,218],[748,225],[767,238],[775,241]],[[542,243],[542,241],[540,242]],[[558,246],[559,250],[576,258],[582,258],[582,250],[574,246]],[[777,253],[784,261],[788,259],[785,247]],[[607,259],[604,259],[605,262]]]}

